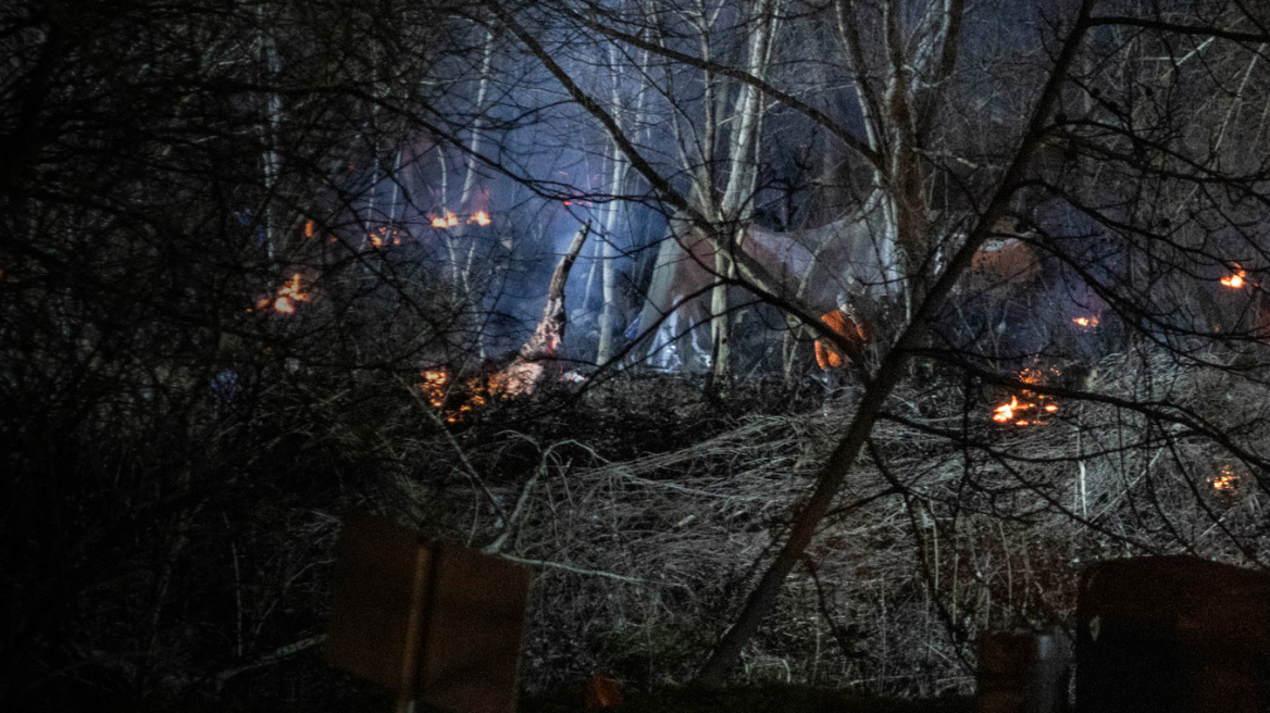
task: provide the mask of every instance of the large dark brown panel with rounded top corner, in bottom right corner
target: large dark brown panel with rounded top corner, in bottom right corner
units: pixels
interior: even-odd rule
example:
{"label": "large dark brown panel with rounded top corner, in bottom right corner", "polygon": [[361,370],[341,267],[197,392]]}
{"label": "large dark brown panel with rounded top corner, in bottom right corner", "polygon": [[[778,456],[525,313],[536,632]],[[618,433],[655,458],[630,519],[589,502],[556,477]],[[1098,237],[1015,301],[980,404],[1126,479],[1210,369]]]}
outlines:
{"label": "large dark brown panel with rounded top corner, in bottom right corner", "polygon": [[1078,713],[1270,710],[1270,575],[1194,557],[1105,562],[1081,581]]}

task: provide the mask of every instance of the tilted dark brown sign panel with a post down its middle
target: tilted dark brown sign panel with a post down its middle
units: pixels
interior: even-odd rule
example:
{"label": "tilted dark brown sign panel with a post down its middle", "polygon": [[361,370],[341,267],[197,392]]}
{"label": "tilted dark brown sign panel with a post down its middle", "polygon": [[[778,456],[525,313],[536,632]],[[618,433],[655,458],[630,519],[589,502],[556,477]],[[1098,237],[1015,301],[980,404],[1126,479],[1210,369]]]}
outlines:
{"label": "tilted dark brown sign panel with a post down its middle", "polygon": [[424,544],[386,518],[354,515],[340,537],[328,660],[456,713],[516,710],[530,572],[498,557]]}

